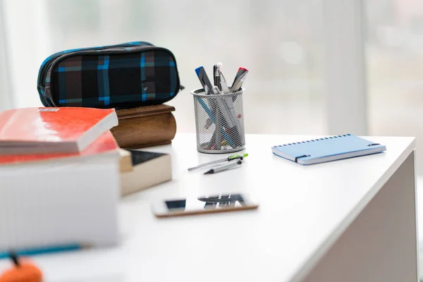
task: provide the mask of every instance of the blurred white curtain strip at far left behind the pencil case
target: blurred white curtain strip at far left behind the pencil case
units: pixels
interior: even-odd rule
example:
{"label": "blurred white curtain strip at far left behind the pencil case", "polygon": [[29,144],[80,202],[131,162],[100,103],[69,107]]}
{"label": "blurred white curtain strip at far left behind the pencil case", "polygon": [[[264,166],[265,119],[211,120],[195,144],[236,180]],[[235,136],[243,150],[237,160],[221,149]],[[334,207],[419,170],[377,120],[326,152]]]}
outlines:
{"label": "blurred white curtain strip at far left behind the pencil case", "polygon": [[42,106],[37,94],[37,73],[51,51],[47,1],[1,0],[1,8],[8,61],[8,93],[12,96],[13,106]]}

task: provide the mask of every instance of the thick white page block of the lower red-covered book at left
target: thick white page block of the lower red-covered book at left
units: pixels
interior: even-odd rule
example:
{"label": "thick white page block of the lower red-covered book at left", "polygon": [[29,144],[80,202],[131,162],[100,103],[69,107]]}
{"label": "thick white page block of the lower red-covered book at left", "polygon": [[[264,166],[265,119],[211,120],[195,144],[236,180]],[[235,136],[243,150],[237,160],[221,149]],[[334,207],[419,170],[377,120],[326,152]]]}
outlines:
{"label": "thick white page block of the lower red-covered book at left", "polygon": [[0,252],[117,243],[117,149],[11,165],[0,158],[0,183]]}

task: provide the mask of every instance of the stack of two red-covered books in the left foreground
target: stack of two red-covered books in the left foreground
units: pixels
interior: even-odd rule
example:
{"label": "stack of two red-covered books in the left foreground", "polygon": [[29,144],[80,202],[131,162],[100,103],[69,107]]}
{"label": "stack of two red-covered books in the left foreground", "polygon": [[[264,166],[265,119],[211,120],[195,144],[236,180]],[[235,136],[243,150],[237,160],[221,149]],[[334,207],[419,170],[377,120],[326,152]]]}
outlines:
{"label": "stack of two red-covered books in the left foreground", "polygon": [[114,109],[13,109],[0,124],[0,252],[117,243]]}

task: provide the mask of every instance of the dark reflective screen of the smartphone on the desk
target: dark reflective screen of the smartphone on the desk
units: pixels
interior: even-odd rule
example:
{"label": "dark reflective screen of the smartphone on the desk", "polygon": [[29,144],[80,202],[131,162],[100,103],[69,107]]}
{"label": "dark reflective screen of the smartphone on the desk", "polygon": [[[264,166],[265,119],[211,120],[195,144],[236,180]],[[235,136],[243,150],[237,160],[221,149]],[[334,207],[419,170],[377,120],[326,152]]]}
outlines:
{"label": "dark reflective screen of the smartphone on the desk", "polygon": [[183,200],[165,201],[168,212],[212,212],[219,209],[244,209],[251,206],[250,201],[240,194],[213,195]]}

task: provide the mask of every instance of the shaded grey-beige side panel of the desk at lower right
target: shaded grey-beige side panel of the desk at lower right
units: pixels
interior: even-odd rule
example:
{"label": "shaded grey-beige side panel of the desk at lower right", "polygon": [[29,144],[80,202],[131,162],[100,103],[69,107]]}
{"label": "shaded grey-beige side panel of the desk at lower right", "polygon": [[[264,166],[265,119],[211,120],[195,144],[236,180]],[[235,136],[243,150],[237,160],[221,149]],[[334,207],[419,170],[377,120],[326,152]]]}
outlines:
{"label": "shaded grey-beige side panel of the desk at lower right", "polygon": [[417,240],[412,152],[304,281],[418,281]]}

